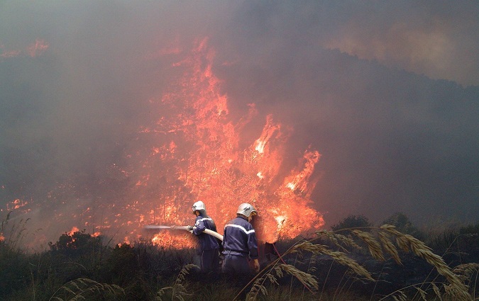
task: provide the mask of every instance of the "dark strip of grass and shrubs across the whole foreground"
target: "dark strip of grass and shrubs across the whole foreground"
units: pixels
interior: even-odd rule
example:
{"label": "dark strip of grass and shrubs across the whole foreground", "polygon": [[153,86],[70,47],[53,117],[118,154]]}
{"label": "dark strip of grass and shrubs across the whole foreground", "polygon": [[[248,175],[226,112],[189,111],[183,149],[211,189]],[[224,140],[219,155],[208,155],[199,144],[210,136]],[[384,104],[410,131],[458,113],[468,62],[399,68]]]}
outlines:
{"label": "dark strip of grass and shrubs across the whole foreground", "polygon": [[479,300],[479,224],[427,235],[402,213],[380,227],[352,215],[277,242],[280,256],[244,279],[200,273],[193,249],[84,231],[28,254],[27,222],[1,223],[0,300]]}

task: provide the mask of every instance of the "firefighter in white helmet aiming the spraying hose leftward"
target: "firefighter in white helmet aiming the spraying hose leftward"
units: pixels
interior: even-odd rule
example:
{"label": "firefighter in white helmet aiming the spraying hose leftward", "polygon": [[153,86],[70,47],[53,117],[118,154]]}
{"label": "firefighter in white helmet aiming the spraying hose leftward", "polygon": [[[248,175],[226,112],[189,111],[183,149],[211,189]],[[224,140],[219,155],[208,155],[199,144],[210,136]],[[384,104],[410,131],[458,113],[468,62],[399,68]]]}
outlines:
{"label": "firefighter in white helmet aiming the spraying hose leftward", "polygon": [[219,271],[219,243],[216,237],[205,234],[204,229],[210,229],[216,232],[214,220],[207,215],[207,208],[199,200],[192,206],[193,214],[197,216],[194,221],[194,227],[188,226],[188,229],[197,235],[199,239],[200,266],[204,272]]}

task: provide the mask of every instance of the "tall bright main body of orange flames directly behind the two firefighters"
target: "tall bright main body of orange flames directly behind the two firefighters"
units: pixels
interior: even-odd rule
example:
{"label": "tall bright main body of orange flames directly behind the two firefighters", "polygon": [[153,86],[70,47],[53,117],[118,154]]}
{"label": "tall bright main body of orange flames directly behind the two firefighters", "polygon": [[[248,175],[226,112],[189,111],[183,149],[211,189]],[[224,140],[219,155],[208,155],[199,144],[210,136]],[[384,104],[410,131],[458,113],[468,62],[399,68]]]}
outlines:
{"label": "tall bright main body of orange flames directly behind the two firefighters", "polygon": [[[141,190],[138,194],[145,200],[152,187],[158,192],[143,210],[145,223],[191,225],[190,206],[203,200],[220,233],[241,203],[252,203],[258,210],[254,223],[265,242],[321,227],[322,216],[309,207],[319,152],[304,152],[297,169],[280,175],[290,133],[272,115],[266,117],[258,139],[241,149],[241,130],[258,112],[250,104],[248,115],[233,123],[228,98],[212,72],[213,59],[214,52],[202,40],[187,59],[175,64],[187,70],[179,84],[158,100],[150,100],[161,116],[140,131],[148,136],[150,149],[136,152],[142,162],[136,170],[142,183],[136,186]],[[177,244],[170,239],[171,232],[161,232],[154,242]]]}

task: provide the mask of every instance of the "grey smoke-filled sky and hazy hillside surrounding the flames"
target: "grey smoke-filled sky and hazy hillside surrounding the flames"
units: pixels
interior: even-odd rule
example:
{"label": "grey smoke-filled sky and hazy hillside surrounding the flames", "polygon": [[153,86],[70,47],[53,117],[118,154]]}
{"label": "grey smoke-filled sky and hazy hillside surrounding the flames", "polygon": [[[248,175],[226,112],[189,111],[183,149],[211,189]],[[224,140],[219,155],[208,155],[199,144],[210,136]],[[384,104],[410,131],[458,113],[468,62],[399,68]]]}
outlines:
{"label": "grey smoke-filled sky and hazy hillside surrounding the flames", "polygon": [[231,114],[256,103],[294,129],[293,160],[321,153],[326,225],[477,222],[478,16],[478,1],[0,1],[0,208],[101,179],[172,55],[206,38]]}

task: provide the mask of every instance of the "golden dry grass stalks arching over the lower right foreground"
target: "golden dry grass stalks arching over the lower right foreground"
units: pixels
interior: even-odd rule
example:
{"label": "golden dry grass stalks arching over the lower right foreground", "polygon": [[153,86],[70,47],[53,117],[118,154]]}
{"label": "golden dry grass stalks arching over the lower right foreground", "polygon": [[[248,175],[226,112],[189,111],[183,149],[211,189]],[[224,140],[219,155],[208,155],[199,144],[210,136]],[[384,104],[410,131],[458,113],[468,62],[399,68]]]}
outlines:
{"label": "golden dry grass stalks arching over the lower right foreground", "polygon": [[[411,252],[415,256],[424,259],[427,263],[434,266],[436,271],[441,276],[444,276],[447,281],[446,283],[429,283],[429,287],[431,288],[432,293],[434,293],[436,299],[443,300],[444,296],[448,296],[452,300],[474,300],[470,293],[468,293],[469,286],[466,283],[472,282],[470,277],[473,273],[478,271],[479,264],[470,263],[468,265],[461,265],[456,267],[453,271],[444,262],[444,259],[442,259],[441,256],[434,254],[431,248],[426,246],[424,242],[409,234],[403,234],[397,231],[392,225],[382,225],[379,228],[370,227],[368,229],[370,232],[365,232],[361,229],[348,230],[350,230],[349,233],[351,233],[353,237],[346,237],[331,231],[319,231],[316,232],[317,237],[304,239],[291,246],[290,249],[282,254],[282,256],[270,263],[267,267],[263,268],[263,270],[260,271],[250,283],[248,283],[248,285],[251,283],[253,283],[253,285],[247,295],[247,300],[257,300],[258,296],[268,295],[268,288],[265,283],[268,282],[279,285],[278,279],[286,274],[299,280],[299,282],[304,285],[304,288],[307,288],[310,292],[316,293],[318,290],[318,283],[314,276],[310,273],[300,271],[292,265],[280,263],[283,257],[297,252],[309,252],[313,254],[313,256],[319,254],[330,256],[331,259],[334,259],[334,262],[350,268],[353,273],[356,273],[360,277],[359,279],[374,281],[369,271],[348,256],[348,249],[361,249],[360,244],[356,242],[354,237],[359,239],[360,242],[363,242],[363,244],[367,246],[370,256],[378,261],[385,261],[389,256],[396,263],[402,264],[399,251],[402,250],[408,253]],[[328,239],[329,242],[332,242],[341,251],[334,251],[324,244],[315,244],[314,242],[319,238]],[[246,287],[248,287],[248,285],[246,285]],[[406,289],[409,288],[412,288],[417,292],[420,300],[427,300],[427,292],[426,290],[423,290],[420,285],[424,285],[424,283],[410,285],[407,288],[397,290],[390,293],[390,295],[382,297],[381,300],[385,300],[388,297],[392,300],[409,300],[406,295]],[[243,288],[243,290],[245,290],[246,287]],[[240,294],[236,295],[233,300],[236,300],[239,295]]]}

